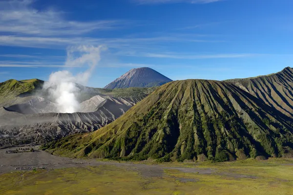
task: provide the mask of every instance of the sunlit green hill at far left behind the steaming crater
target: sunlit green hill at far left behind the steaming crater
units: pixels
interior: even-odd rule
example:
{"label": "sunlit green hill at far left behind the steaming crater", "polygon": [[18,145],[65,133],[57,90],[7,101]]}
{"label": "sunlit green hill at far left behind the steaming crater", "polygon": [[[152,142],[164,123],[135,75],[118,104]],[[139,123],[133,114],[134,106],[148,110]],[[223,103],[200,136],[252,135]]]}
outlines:
{"label": "sunlit green hill at far left behind the steaming crater", "polygon": [[18,81],[10,79],[0,83],[0,105],[12,100],[23,93],[32,92],[35,89],[41,89],[44,81],[39,79],[30,79]]}

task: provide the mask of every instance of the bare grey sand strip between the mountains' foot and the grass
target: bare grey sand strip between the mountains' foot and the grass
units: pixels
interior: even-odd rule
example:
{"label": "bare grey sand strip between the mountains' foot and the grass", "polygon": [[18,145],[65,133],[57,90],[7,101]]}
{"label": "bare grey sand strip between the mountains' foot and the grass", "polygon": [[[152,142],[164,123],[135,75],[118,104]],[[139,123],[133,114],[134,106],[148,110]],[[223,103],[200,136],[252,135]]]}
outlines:
{"label": "bare grey sand strip between the mountains' foot and the grass", "polygon": [[[19,147],[17,147],[19,148]],[[17,148],[10,148],[16,150]],[[21,148],[21,147],[20,147]],[[25,146],[23,148],[26,148]],[[71,159],[61,156],[54,156],[35,147],[35,152],[6,154],[6,150],[0,150],[0,174],[16,171],[16,168],[23,167],[46,167],[49,169],[60,169],[70,167],[86,167],[99,165],[114,165],[135,170],[147,177],[160,177],[164,174],[164,169],[175,169],[185,173],[212,174],[211,169],[197,169],[185,167],[166,167],[161,165],[135,164],[130,162],[103,162],[95,159]]]}

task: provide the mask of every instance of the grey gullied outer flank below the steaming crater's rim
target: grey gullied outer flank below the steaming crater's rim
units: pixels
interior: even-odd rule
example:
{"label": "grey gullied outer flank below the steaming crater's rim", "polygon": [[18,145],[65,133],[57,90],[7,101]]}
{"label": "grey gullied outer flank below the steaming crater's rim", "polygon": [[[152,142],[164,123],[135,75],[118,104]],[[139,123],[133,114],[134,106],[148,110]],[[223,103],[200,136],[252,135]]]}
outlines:
{"label": "grey gullied outer flank below the steaming crater's rim", "polygon": [[72,134],[95,131],[113,121],[113,118],[102,117],[99,111],[23,115],[0,108],[0,114],[0,146],[45,143]]}

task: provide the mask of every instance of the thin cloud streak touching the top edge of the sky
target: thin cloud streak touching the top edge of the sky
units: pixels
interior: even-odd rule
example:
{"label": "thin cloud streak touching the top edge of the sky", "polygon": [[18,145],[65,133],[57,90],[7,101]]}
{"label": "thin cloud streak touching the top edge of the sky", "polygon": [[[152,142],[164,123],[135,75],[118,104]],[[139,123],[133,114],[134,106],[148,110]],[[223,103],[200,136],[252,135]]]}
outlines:
{"label": "thin cloud streak touching the top edge of the sky", "polygon": [[134,0],[139,4],[162,4],[162,3],[193,3],[206,4],[222,0]]}

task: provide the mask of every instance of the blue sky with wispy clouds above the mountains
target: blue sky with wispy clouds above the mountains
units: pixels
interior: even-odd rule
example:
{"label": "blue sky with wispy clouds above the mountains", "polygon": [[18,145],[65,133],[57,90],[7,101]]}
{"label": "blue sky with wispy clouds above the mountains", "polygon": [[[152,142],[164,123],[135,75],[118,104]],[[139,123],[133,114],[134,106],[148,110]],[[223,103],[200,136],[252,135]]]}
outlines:
{"label": "blue sky with wispy clouds above the mountains", "polygon": [[293,66],[292,0],[0,0],[0,82],[73,74],[68,48],[104,45],[88,86],[131,68],[177,80]]}

